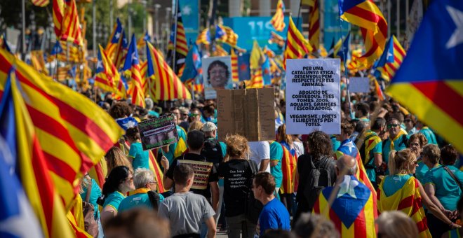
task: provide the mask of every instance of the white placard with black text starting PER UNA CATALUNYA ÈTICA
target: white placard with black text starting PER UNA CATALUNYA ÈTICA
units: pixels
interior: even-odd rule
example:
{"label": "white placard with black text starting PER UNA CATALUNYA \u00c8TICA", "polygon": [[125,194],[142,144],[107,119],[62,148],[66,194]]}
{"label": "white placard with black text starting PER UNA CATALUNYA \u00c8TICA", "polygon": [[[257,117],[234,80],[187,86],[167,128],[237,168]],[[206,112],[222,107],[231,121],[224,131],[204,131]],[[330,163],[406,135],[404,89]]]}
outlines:
{"label": "white placard with black text starting PER UNA CATALUNYA \u00c8TICA", "polygon": [[341,134],[340,59],[286,59],[286,134]]}

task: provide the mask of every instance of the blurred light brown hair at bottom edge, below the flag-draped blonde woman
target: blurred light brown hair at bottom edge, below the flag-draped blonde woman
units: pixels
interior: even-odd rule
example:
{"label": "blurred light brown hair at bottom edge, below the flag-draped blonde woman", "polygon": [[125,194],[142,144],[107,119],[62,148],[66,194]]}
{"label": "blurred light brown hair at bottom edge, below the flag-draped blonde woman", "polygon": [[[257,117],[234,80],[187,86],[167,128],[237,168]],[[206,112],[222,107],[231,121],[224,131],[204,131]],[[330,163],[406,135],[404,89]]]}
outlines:
{"label": "blurred light brown hair at bottom edge, below the flag-draped blonde woman", "polygon": [[416,223],[402,211],[384,211],[376,219],[376,223],[381,234],[387,237],[418,237]]}

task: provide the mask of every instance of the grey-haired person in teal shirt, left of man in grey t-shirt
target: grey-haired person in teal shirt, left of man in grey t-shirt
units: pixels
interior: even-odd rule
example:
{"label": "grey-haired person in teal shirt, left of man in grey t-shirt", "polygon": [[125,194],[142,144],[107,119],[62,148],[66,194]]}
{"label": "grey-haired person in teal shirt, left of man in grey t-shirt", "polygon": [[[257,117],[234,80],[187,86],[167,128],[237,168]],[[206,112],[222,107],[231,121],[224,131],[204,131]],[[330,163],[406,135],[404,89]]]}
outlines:
{"label": "grey-haired person in teal shirt, left of man in grey t-shirt", "polygon": [[154,179],[153,172],[142,168],[135,170],[133,183],[135,184],[135,191],[133,191],[133,195],[122,200],[119,205],[119,212],[140,207],[157,211],[164,197],[156,193],[158,182]]}

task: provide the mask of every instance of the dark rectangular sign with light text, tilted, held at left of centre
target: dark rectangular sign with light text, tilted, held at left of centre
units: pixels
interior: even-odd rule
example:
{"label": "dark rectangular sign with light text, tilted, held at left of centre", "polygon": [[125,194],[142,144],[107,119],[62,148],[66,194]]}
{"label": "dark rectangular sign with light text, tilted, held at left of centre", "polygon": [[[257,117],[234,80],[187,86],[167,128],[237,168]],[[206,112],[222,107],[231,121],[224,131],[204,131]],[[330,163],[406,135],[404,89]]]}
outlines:
{"label": "dark rectangular sign with light text, tilted, held at left of centre", "polygon": [[159,118],[144,120],[138,123],[144,151],[174,144],[178,141],[175,116],[169,114]]}

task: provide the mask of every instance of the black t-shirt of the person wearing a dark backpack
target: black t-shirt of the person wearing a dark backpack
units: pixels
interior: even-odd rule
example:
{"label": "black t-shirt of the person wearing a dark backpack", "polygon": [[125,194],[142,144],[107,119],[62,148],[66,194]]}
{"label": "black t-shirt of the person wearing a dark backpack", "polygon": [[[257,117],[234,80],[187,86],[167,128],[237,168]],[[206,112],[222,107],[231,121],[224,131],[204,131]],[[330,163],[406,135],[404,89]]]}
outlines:
{"label": "black t-shirt of the person wearing a dark backpack", "polygon": [[[297,186],[297,190],[300,191],[300,193],[297,193],[296,195],[296,201],[297,202],[305,202],[305,197],[304,191],[305,185],[307,184],[307,176],[309,175],[309,168],[310,168],[310,160],[311,160],[311,155],[310,154],[304,154],[301,155],[297,158],[297,172],[299,173],[299,183]],[[320,161],[321,160],[314,160],[314,166],[319,167]],[[333,158],[329,158],[330,162],[328,163],[328,167],[325,169],[328,169],[330,172],[330,179],[331,183],[329,186],[333,186],[336,181],[336,167],[335,167],[335,160]]]}

